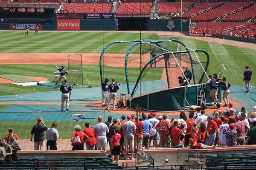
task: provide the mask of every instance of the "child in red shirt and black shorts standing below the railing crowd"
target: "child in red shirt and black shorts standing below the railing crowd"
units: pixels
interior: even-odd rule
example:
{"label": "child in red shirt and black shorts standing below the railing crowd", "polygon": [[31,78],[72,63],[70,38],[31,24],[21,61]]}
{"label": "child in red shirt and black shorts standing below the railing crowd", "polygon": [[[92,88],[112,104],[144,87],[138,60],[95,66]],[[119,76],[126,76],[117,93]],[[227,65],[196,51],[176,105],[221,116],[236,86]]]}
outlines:
{"label": "child in red shirt and black shorts standing below the railing crowd", "polygon": [[112,136],[111,144],[112,144],[112,160],[116,156],[116,163],[118,163],[119,155],[120,155],[120,139],[121,135],[119,134],[119,129],[115,129],[115,134]]}

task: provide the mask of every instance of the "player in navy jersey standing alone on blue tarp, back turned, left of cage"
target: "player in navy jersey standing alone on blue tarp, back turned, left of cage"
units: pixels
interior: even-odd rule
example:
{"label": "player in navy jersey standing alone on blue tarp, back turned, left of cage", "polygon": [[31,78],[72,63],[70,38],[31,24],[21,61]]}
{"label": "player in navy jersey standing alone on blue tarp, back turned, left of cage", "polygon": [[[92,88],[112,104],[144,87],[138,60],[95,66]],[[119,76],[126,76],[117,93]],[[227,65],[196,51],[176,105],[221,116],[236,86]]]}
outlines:
{"label": "player in navy jersey standing alone on blue tarp, back turned, left of cage", "polygon": [[72,88],[70,85],[67,84],[67,80],[64,80],[64,84],[61,85],[60,91],[62,92],[61,94],[61,111],[64,111],[64,101],[66,99],[66,111],[68,110],[68,106],[69,106],[69,99],[71,97],[71,91]]}

